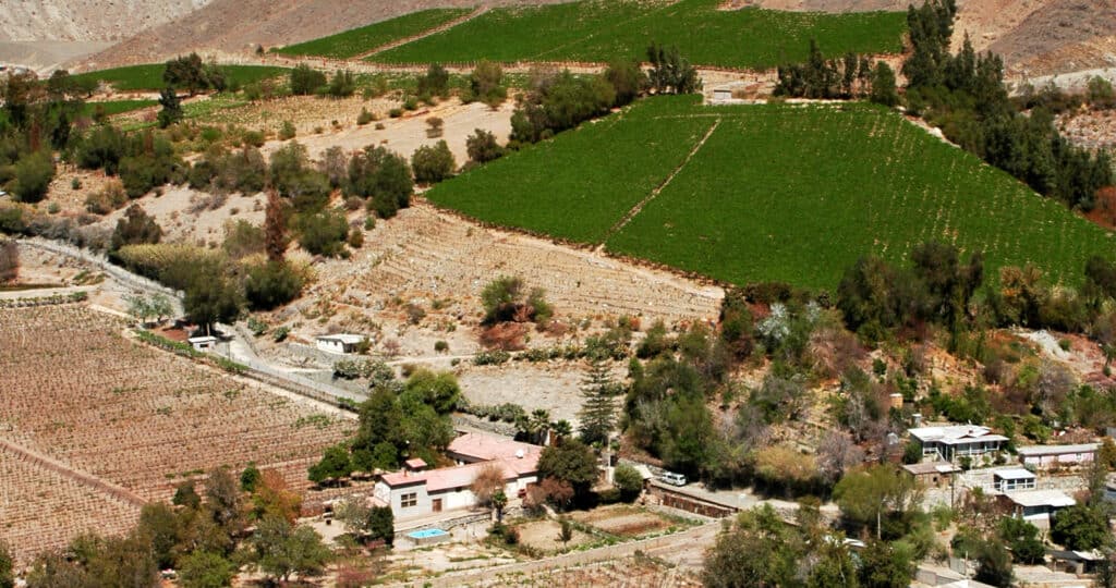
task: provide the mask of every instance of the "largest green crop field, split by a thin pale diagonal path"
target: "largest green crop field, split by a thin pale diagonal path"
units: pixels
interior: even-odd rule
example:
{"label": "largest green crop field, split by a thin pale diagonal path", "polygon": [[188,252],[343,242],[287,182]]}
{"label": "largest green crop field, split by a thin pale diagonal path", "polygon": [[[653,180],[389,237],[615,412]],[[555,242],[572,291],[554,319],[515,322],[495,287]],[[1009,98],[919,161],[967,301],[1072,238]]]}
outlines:
{"label": "largest green crop field, split by a thin pale diagonal path", "polygon": [[860,256],[902,261],[930,240],[983,251],[992,277],[1032,262],[1079,283],[1090,254],[1113,251],[1109,233],[1058,202],[895,113],[859,104],[647,99],[444,182],[427,199],[741,285],[831,289]]}

